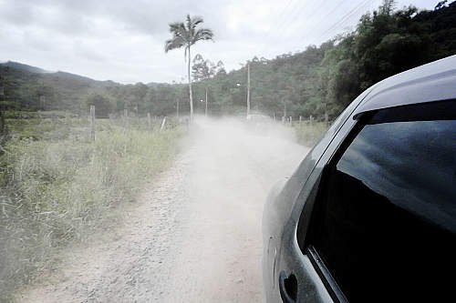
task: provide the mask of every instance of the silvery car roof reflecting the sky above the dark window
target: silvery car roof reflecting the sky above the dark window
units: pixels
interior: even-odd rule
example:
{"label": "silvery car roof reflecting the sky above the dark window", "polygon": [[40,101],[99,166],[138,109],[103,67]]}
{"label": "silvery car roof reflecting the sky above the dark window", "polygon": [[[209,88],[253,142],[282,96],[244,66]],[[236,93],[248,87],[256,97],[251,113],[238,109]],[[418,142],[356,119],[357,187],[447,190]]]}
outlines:
{"label": "silvery car roof reflecting the sky above the dark window", "polygon": [[353,118],[372,110],[456,98],[456,55],[390,76],[368,88]]}

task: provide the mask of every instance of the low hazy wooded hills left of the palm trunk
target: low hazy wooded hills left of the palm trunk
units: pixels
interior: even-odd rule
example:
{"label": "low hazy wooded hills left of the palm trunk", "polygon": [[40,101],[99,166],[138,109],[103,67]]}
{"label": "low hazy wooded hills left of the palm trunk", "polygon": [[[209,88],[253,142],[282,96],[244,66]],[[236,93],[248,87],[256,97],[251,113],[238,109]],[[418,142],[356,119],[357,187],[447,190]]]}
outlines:
{"label": "low hazy wooded hills left of the palm trunk", "polygon": [[[121,85],[21,66],[17,68],[16,63],[0,65],[0,86],[4,91],[0,103],[9,111],[57,110],[87,115],[88,106],[96,105],[98,116],[116,115],[124,108],[132,114],[150,112],[161,116],[175,111],[177,100],[188,98],[186,86],[178,84]],[[182,112],[188,110],[187,103],[180,104]]]}

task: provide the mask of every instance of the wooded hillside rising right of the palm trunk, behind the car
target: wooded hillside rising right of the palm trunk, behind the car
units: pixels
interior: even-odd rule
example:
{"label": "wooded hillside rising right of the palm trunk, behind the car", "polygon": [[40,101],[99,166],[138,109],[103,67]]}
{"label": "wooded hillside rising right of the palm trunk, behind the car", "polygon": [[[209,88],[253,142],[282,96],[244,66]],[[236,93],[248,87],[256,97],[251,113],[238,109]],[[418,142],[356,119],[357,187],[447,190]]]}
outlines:
{"label": "wooded hillside rising right of the palm trunk, behind the car", "polygon": [[[267,115],[337,116],[363,90],[409,68],[456,54],[456,2],[433,11],[395,10],[387,0],[363,15],[356,29],[302,53],[250,61],[252,106]],[[201,81],[212,111],[244,107],[246,67]],[[235,86],[241,83],[243,86]]]}

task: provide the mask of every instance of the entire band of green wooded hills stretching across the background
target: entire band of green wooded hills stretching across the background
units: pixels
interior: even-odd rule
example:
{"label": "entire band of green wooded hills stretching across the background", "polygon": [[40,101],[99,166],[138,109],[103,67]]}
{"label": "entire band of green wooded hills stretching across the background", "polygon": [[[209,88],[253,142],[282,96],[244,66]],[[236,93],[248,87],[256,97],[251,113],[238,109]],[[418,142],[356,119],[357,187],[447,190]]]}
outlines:
{"label": "entire band of green wooded hills stretching across the background", "polygon": [[[456,2],[441,1],[432,11],[413,6],[395,9],[386,0],[363,15],[356,29],[304,52],[254,57],[251,68],[252,108],[270,116],[334,118],[364,89],[401,71],[456,54]],[[8,106],[26,110],[70,110],[98,115],[132,113],[173,115],[180,103],[187,113],[188,87],[181,84],[123,86],[66,73],[32,73],[0,66]],[[193,60],[195,112],[204,110],[207,90],[211,115],[244,113],[246,66],[226,73],[202,56]],[[1,79],[0,79],[1,80]],[[5,102],[5,101],[4,101]]]}

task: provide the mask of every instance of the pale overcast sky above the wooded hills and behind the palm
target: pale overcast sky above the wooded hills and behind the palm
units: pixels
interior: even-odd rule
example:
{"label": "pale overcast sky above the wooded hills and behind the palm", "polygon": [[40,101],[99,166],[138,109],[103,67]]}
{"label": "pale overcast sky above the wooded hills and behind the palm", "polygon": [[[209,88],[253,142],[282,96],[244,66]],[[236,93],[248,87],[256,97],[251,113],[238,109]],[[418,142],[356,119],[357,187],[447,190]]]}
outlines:
{"label": "pale overcast sky above the wooded hills and behind the palm", "polygon": [[[439,0],[399,0],[432,9]],[[381,0],[0,0],[0,61],[120,83],[181,82],[183,50],[164,53],[168,24],[201,15],[215,42],[195,45],[227,70],[353,29]]]}

